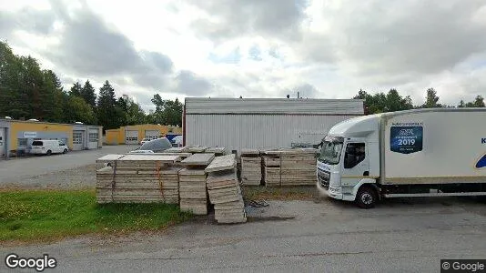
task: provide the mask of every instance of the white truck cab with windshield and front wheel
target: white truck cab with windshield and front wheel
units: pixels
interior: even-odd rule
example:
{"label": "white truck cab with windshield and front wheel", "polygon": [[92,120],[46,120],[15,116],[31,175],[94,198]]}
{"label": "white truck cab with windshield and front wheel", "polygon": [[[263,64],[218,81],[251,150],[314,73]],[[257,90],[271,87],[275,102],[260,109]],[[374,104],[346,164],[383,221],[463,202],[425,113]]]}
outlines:
{"label": "white truck cab with windshield and front wheel", "polygon": [[380,115],[333,126],[322,139],[317,188],[323,195],[374,207],[380,198]]}

